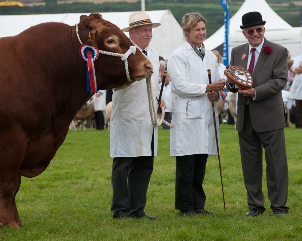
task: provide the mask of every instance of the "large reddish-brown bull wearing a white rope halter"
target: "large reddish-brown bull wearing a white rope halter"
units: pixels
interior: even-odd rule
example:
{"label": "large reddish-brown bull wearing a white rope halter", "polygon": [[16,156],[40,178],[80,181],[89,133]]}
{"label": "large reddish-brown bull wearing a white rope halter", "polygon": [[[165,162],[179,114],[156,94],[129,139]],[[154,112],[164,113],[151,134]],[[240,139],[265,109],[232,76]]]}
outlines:
{"label": "large reddish-brown bull wearing a white rope halter", "polygon": [[[83,43],[124,54],[133,43],[99,14],[82,15]],[[42,173],[64,142],[69,124],[91,98],[86,94],[86,62],[76,26],[44,23],[0,38],[0,226],[19,228],[15,196],[21,175]],[[131,80],[151,74],[152,65],[136,51],[128,58]],[[94,62],[97,89],[127,82],[120,57],[100,54]]]}

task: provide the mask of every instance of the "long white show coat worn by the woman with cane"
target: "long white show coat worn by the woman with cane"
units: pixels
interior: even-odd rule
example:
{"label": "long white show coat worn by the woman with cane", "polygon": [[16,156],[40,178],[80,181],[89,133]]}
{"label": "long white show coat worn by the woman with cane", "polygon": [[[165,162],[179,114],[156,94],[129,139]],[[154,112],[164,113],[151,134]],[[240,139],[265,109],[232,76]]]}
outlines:
{"label": "long white show coat worn by the woman with cane", "polygon": [[[205,49],[202,61],[186,42],[172,53],[167,68],[172,83],[171,123],[174,124],[170,132],[171,156],[217,155],[212,104],[205,93],[209,83],[208,69],[211,70],[212,83],[220,81],[216,56]],[[215,103],[214,106],[219,130]],[[219,141],[219,131],[217,136]]]}

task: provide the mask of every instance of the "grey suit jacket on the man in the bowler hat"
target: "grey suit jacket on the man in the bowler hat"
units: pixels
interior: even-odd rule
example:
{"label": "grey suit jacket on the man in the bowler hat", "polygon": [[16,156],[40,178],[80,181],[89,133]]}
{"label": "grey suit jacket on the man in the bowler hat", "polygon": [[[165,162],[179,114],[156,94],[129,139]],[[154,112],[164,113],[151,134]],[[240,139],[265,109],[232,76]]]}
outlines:
{"label": "grey suit jacket on the man in the bowler hat", "polygon": [[[249,97],[249,111],[253,128],[257,132],[279,130],[285,127],[285,113],[281,90],[287,82],[288,63],[287,49],[264,39],[263,47],[271,47],[271,53],[262,48],[252,74],[253,88],[256,91],[256,100]],[[249,54],[249,44],[232,49],[231,65],[243,65],[248,68],[248,58],[241,56]],[[228,87],[228,85],[227,85]],[[228,89],[235,93],[238,89]],[[237,131],[243,130],[244,96],[238,94]]]}

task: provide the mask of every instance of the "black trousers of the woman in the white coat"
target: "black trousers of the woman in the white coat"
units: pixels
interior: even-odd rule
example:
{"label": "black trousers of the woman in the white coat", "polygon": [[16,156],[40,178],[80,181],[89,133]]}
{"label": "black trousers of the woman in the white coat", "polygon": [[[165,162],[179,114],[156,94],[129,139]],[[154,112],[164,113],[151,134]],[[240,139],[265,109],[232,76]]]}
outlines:
{"label": "black trousers of the woman in the white coat", "polygon": [[205,166],[208,154],[176,156],[175,209],[204,208]]}

